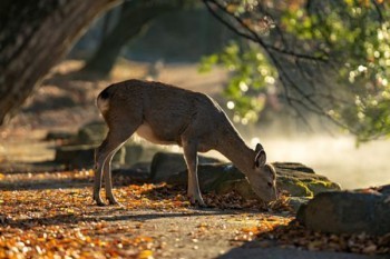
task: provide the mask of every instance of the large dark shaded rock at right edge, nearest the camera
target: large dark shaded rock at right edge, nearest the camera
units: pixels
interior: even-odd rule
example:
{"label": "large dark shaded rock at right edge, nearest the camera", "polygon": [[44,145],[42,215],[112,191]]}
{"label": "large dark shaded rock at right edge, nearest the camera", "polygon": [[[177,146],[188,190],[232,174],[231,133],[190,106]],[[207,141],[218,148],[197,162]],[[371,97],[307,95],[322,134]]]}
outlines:
{"label": "large dark shaded rock at right edge, nearest the camera", "polygon": [[390,233],[390,186],[376,191],[331,191],[302,206],[296,219],[316,231]]}

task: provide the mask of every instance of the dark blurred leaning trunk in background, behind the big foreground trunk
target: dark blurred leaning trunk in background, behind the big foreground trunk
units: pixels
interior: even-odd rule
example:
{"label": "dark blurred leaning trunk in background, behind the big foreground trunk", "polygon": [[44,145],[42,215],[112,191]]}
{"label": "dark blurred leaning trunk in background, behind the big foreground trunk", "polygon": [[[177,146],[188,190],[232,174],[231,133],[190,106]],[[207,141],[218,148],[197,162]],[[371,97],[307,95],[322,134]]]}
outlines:
{"label": "dark blurred leaning trunk in background, behind the big foreground trunk", "polygon": [[176,1],[134,0],[125,2],[116,26],[105,36],[97,51],[81,69],[106,77],[111,71],[121,49],[139,36],[156,17],[179,9]]}

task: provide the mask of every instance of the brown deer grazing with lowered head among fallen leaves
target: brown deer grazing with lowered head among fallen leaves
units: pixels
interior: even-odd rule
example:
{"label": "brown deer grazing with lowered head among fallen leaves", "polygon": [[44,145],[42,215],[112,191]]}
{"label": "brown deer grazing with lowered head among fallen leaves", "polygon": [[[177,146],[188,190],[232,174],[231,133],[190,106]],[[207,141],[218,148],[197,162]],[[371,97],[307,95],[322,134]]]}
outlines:
{"label": "brown deer grazing with lowered head among fallen leaves", "polygon": [[[262,145],[251,149],[218,106],[205,93],[157,81],[130,79],[110,84],[96,99],[108,126],[95,150],[94,201],[105,206],[100,196],[105,181],[109,205],[119,205],[113,193],[111,159],[134,135],[156,145],[183,148],[188,171],[187,197],[192,205],[206,207],[197,177],[197,153],[216,150],[233,162],[261,200],[276,200],[276,175],[266,163]],[[104,178],[104,179],[103,179]]]}

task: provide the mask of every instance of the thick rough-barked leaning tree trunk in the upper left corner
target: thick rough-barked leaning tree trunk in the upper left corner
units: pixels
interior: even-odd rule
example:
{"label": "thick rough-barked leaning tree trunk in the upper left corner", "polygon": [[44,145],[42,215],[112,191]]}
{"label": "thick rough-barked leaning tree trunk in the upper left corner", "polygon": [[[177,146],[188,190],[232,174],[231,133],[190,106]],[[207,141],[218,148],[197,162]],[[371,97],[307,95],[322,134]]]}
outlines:
{"label": "thick rough-barked leaning tree trunk in the upper left corner", "polygon": [[69,50],[84,29],[120,0],[1,0],[0,126]]}

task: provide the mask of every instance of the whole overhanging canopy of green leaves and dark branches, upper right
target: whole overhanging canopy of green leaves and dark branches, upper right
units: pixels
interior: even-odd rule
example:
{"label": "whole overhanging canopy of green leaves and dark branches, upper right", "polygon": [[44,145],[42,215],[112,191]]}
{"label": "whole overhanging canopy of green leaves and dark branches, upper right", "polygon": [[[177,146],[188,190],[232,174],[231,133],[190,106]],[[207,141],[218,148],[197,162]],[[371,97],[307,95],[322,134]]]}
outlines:
{"label": "whole overhanging canopy of green leaves and dark branches, upper right", "polygon": [[[204,0],[241,40],[204,57],[222,63],[236,121],[257,120],[264,93],[304,119],[321,114],[358,141],[390,136],[390,3],[383,0]],[[246,40],[242,40],[246,39]]]}

